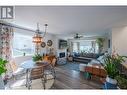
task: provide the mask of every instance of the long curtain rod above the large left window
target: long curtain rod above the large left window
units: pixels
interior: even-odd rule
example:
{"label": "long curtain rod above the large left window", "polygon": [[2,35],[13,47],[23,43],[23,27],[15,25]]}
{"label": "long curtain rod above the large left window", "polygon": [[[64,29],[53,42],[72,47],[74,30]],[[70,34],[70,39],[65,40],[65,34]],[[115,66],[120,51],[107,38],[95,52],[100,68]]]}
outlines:
{"label": "long curtain rod above the large left window", "polygon": [[[18,29],[22,29],[22,30],[27,30],[27,31],[31,31],[31,32],[36,32],[36,30],[32,30],[32,29],[28,29],[25,27],[21,27],[19,25],[16,24],[12,24],[12,23],[7,23],[7,22],[0,22],[1,25],[5,25],[5,26],[9,26],[9,27],[14,27],[14,28],[18,28]],[[41,31],[40,31],[41,32]]]}

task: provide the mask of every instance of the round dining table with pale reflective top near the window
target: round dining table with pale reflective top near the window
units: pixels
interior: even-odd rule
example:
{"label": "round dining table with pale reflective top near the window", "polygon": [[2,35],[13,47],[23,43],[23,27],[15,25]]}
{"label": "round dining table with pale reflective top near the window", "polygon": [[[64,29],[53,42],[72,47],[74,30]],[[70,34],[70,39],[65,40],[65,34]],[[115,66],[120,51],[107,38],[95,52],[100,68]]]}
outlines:
{"label": "round dining table with pale reflective top near the window", "polygon": [[49,65],[49,63],[46,61],[35,62],[33,60],[26,60],[23,63],[21,63],[20,67],[24,68],[26,70],[26,87],[28,85],[29,72],[31,69],[36,68],[38,66],[38,63],[39,63],[39,65],[41,64],[41,66],[43,66],[43,67]]}

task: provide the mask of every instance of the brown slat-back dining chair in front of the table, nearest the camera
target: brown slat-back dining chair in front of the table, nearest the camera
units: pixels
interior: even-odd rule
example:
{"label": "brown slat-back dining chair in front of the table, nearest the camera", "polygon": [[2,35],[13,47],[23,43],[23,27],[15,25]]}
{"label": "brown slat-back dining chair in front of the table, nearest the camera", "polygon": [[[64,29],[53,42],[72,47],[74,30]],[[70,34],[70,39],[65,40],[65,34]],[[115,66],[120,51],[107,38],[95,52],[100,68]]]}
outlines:
{"label": "brown slat-back dining chair in front of the table, nearest the camera", "polygon": [[45,82],[46,82],[45,79],[46,78],[44,76],[44,69],[41,64],[38,64],[37,67],[30,70],[29,79],[28,79],[28,83],[27,83],[28,89],[32,88],[32,81],[36,80],[36,79],[41,79],[42,85],[45,89]]}

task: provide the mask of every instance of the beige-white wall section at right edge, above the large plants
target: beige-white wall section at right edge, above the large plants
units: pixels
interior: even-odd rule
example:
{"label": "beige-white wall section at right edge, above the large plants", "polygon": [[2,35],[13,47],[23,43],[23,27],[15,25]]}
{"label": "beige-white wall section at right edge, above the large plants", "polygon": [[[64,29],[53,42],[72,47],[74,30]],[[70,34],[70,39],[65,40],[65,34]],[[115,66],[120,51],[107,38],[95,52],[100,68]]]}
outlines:
{"label": "beige-white wall section at right edge, above the large plants", "polygon": [[127,26],[112,29],[112,51],[127,56]]}

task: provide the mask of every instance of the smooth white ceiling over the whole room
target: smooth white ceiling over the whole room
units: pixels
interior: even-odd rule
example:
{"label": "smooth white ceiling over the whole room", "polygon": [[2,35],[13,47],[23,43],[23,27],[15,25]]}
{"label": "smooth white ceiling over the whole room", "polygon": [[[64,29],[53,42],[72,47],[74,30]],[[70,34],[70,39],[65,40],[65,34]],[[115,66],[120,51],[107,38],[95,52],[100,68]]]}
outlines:
{"label": "smooth white ceiling over the whole room", "polygon": [[16,6],[13,23],[40,30],[48,24],[48,32],[57,35],[105,35],[115,25],[127,25],[124,6]]}

